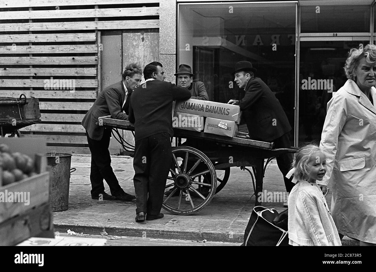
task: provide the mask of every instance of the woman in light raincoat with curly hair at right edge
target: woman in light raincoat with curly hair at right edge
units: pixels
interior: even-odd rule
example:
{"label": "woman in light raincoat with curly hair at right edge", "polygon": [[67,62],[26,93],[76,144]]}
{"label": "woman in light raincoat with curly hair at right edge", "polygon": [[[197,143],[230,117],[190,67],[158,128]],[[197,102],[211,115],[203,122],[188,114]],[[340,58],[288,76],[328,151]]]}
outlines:
{"label": "woman in light raincoat with curly hair at right edge", "polygon": [[331,213],[338,233],[376,245],[376,46],[353,48],[349,78],[327,104],[320,147],[332,186]]}

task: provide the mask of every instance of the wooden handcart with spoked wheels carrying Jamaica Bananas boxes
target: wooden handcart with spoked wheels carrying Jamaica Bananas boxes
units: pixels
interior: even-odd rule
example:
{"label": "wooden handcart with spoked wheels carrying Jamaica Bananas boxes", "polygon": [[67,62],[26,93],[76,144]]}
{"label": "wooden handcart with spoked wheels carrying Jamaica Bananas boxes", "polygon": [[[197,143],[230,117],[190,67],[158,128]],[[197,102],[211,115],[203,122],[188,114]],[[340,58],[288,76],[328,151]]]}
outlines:
{"label": "wooden handcart with spoked wheels carrying Jamaica Bananas boxes", "polygon": [[[98,120],[99,125],[134,131],[134,126],[128,121],[112,119],[111,116],[99,117]],[[208,204],[229,179],[230,167],[247,170],[252,178],[254,193],[259,195],[265,169],[271,159],[297,151],[294,147],[274,149],[273,143],[251,140],[242,133],[230,138],[174,128],[174,137],[178,139],[177,146],[172,148],[173,162],[165,187],[173,190],[166,192],[163,208],[176,215],[191,215]],[[200,150],[184,143],[180,145],[181,138],[201,142]],[[121,141],[123,143],[123,139]],[[247,167],[252,167],[252,171]],[[260,204],[256,197],[255,206]]]}

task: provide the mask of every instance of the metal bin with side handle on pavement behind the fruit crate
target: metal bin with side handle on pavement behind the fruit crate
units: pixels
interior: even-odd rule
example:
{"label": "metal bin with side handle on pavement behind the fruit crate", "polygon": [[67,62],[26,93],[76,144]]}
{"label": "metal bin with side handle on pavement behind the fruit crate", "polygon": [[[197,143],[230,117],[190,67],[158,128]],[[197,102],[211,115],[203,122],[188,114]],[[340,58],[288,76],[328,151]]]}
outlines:
{"label": "metal bin with side handle on pavement behind the fruit crate", "polygon": [[53,212],[68,209],[70,173],[76,168],[70,168],[72,154],[47,153],[47,164],[50,171],[50,201]]}

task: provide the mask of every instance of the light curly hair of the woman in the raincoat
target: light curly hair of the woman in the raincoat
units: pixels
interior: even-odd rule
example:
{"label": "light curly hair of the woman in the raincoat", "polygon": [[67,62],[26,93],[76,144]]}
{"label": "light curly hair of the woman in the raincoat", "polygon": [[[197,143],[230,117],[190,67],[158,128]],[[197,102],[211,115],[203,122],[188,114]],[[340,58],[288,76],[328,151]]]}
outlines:
{"label": "light curly hair of the woman in the raincoat", "polygon": [[373,64],[376,62],[376,45],[367,44],[363,49],[359,48],[352,48],[349,51],[349,56],[347,57],[346,64],[345,64],[345,74],[346,77],[356,81],[356,67],[358,66],[359,60],[361,57],[365,57],[365,60],[369,64]]}

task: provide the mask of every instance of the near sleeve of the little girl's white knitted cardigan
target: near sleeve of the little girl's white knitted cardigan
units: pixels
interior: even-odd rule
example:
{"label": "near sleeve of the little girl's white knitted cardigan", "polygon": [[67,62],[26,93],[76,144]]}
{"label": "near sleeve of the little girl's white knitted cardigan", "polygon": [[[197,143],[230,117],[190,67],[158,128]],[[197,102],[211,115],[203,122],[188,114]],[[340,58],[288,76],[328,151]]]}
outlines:
{"label": "near sleeve of the little girl's white knitted cardigan", "polygon": [[[299,203],[299,202],[300,203]],[[329,242],[326,238],[323,224],[320,218],[318,205],[321,205],[313,195],[307,191],[302,190],[299,192],[297,202],[298,213],[300,214],[303,224],[308,231],[315,246],[328,246]]]}

